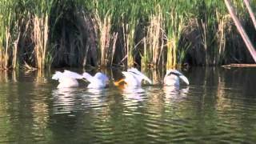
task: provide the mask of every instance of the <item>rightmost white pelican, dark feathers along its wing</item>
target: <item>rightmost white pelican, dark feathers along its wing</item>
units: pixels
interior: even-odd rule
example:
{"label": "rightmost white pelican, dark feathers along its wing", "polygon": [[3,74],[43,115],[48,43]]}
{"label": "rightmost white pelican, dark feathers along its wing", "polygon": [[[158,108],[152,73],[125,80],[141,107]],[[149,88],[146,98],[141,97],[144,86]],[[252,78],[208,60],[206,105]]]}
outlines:
{"label": "rightmost white pelican, dark feathers along its wing", "polygon": [[190,84],[189,80],[178,70],[167,70],[164,78],[165,86],[179,86],[179,78],[182,79],[187,85]]}

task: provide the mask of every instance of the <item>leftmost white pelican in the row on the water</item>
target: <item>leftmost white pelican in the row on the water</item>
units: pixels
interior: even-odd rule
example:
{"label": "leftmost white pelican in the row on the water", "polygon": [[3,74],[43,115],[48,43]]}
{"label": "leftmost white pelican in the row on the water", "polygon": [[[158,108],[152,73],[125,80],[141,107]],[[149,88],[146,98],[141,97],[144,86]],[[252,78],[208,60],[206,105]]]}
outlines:
{"label": "leftmost white pelican in the row on the water", "polygon": [[74,73],[70,70],[64,70],[64,72],[56,71],[52,79],[58,80],[58,88],[76,87],[78,86],[77,79],[82,79],[81,74]]}

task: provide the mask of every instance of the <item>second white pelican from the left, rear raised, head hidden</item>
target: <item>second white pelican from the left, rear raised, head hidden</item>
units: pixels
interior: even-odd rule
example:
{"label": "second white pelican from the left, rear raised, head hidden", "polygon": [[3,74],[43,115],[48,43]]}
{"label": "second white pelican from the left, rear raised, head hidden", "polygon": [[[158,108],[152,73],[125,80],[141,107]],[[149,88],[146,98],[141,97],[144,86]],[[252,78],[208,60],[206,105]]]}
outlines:
{"label": "second white pelican from the left, rear raised, head hidden", "polygon": [[87,86],[87,88],[90,89],[103,89],[106,87],[107,82],[109,82],[109,78],[107,78],[106,74],[100,72],[95,74],[94,77],[86,72],[82,75],[83,78],[86,78],[86,80],[90,82],[90,84]]}

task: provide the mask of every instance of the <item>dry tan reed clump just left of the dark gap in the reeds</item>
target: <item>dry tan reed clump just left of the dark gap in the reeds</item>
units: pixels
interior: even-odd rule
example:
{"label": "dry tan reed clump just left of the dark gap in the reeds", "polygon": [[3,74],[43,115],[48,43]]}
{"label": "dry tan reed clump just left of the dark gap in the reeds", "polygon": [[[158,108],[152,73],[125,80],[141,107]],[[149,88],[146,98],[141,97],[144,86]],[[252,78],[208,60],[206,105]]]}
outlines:
{"label": "dry tan reed clump just left of the dark gap in the reeds", "polygon": [[[34,1],[32,9],[32,42],[34,42],[34,62],[35,67],[44,70],[51,66],[52,57],[50,56],[50,18],[52,7],[56,5],[55,0]],[[28,14],[29,16],[29,14]]]}

